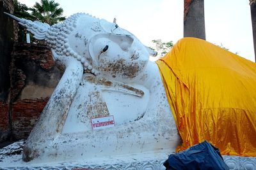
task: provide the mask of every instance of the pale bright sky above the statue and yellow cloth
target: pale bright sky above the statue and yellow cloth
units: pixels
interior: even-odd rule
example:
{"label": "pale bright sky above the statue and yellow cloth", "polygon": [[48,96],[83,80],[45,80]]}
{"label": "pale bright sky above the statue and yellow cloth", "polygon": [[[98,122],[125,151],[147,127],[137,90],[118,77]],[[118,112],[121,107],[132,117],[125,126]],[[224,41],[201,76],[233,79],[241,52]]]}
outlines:
{"label": "pale bright sky above the statue and yellow cloth", "polygon": [[[38,2],[40,0],[37,0]],[[33,6],[36,0],[19,0]],[[183,0],[55,0],[64,15],[90,13],[116,23],[152,46],[152,39],[173,41],[183,37]],[[206,40],[254,61],[249,0],[204,1]]]}

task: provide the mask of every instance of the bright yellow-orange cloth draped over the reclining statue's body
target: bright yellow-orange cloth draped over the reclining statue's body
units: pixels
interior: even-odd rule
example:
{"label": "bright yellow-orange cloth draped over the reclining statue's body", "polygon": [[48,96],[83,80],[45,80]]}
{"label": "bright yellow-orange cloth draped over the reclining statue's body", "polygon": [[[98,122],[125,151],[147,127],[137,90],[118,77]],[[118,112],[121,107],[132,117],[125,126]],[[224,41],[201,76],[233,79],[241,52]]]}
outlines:
{"label": "bright yellow-orange cloth draped over the reclining statue's body", "polygon": [[256,156],[256,64],[183,38],[156,61],[182,145],[204,140],[223,155]]}

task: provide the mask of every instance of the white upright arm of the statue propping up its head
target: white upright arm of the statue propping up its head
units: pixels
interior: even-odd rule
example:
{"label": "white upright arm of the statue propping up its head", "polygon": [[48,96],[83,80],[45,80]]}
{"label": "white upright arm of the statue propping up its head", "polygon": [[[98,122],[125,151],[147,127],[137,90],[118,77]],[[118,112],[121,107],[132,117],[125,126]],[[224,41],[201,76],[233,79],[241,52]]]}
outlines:
{"label": "white upright arm of the statue propping up its head", "polygon": [[[83,66],[81,63],[71,57],[62,57],[59,60],[65,66],[65,73],[26,141],[23,154],[23,160],[25,161],[36,157],[38,145],[49,145],[60,134],[70,104],[81,82],[83,76]],[[39,148],[42,148],[42,146]]]}

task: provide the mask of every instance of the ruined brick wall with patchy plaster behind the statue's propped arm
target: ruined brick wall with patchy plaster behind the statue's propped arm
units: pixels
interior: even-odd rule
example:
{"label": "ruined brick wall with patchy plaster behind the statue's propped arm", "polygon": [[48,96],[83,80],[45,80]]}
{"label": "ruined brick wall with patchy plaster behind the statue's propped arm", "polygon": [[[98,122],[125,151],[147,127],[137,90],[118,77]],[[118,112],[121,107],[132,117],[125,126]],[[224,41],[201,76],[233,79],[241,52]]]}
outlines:
{"label": "ruined brick wall with patchy plaster behind the statue's propped arm", "polygon": [[12,138],[27,138],[63,74],[45,45],[15,43],[10,67]]}

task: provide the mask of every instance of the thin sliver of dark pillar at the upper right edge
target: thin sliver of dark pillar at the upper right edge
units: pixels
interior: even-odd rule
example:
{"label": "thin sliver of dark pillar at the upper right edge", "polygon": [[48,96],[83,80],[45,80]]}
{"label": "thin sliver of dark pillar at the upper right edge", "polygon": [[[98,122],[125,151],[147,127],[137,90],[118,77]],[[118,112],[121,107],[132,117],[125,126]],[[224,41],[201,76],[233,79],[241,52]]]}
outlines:
{"label": "thin sliver of dark pillar at the upper right edge", "polygon": [[251,6],[251,16],[252,16],[254,55],[255,55],[255,62],[256,62],[256,0],[250,0],[250,6]]}

